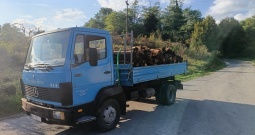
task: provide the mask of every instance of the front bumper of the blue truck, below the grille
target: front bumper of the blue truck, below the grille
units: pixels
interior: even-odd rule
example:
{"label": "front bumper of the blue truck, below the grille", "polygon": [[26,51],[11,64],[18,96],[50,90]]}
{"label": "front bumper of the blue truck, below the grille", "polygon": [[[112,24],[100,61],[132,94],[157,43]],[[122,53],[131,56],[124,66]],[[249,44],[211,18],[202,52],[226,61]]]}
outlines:
{"label": "front bumper of the blue truck, below the grille", "polygon": [[[73,125],[75,122],[73,120],[73,113],[69,109],[58,109],[58,108],[48,108],[40,105],[36,105],[27,101],[27,99],[22,98],[22,108],[26,111],[28,115],[34,114],[41,117],[41,121],[49,124],[61,124],[61,125]],[[53,117],[53,111],[60,111],[64,113],[64,120],[55,119]]]}

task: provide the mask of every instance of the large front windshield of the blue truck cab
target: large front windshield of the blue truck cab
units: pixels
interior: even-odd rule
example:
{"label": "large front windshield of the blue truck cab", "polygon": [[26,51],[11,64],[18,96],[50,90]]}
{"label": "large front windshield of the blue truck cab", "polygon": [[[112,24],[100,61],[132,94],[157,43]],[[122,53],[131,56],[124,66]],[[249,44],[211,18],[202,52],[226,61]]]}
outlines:
{"label": "large front windshield of the blue truck cab", "polygon": [[69,35],[70,31],[62,31],[33,38],[26,65],[63,66]]}

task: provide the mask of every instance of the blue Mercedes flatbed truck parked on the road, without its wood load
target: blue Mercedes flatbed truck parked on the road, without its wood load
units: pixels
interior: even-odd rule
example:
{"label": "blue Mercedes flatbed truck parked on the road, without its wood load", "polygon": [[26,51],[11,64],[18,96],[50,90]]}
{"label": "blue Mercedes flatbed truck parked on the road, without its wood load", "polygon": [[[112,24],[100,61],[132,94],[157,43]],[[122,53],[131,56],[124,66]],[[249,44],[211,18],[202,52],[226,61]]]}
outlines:
{"label": "blue Mercedes flatbed truck parked on the road, without its wood load", "polygon": [[116,53],[108,31],[57,29],[32,38],[20,80],[22,108],[37,121],[71,126],[95,121],[109,131],[129,100],[155,96],[159,104],[173,104],[183,88],[175,76],[186,72],[187,62],[133,67],[132,50]]}

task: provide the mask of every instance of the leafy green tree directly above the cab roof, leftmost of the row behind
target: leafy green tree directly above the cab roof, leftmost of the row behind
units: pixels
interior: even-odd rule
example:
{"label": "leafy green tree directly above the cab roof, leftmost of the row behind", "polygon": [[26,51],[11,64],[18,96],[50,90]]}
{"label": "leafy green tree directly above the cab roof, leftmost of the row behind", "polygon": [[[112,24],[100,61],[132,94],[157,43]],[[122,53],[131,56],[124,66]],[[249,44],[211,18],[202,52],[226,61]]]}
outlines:
{"label": "leafy green tree directly above the cab roof, leftmost of the row behind", "polygon": [[111,8],[101,8],[94,18],[84,24],[84,27],[105,29],[105,19],[112,11]]}

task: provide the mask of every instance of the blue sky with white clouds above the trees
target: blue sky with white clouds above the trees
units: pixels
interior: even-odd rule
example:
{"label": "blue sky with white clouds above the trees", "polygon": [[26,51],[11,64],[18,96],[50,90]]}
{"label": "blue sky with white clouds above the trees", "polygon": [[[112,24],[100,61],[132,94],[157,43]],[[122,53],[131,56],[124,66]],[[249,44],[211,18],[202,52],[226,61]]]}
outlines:
{"label": "blue sky with white clouds above the trees", "polygon": [[[0,25],[11,23],[41,30],[83,26],[101,7],[126,8],[126,0],[0,0]],[[132,3],[134,0],[129,0]],[[170,0],[138,0],[141,6],[160,2],[164,9]],[[183,8],[200,10],[216,22],[226,17],[244,20],[255,15],[255,0],[184,0]]]}

